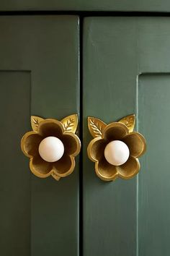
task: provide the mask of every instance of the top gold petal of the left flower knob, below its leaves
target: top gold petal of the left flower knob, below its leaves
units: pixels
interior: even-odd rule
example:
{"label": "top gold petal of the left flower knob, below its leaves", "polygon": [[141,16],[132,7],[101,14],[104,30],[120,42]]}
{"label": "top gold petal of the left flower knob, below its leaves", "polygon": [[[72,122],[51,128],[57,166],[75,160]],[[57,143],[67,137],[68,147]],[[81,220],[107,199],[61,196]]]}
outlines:
{"label": "top gold petal of the left flower knob, below its leaves", "polygon": [[63,131],[63,124],[56,119],[45,119],[37,127],[37,133],[42,137],[54,136],[61,138]]}

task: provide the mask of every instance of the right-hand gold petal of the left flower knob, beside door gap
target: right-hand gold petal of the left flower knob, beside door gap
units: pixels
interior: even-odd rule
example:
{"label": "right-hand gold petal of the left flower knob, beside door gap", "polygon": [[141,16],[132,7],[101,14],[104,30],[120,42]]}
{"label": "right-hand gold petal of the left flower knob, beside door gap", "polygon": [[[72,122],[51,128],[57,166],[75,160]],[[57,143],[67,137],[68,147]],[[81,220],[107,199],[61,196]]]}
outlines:
{"label": "right-hand gold petal of the left flower knob, beside door gap", "polygon": [[76,156],[79,154],[81,141],[78,136],[71,132],[64,132],[61,140],[63,142],[66,155]]}

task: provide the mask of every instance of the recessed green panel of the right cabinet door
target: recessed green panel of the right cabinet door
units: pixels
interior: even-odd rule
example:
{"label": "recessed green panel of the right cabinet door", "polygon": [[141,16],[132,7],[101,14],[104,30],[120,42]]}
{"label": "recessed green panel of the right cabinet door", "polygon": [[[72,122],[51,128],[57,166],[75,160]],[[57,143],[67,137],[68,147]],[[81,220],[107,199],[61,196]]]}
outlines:
{"label": "recessed green panel of the right cabinet door", "polygon": [[143,74],[138,89],[139,129],[148,141],[138,185],[139,255],[169,256],[170,74]]}

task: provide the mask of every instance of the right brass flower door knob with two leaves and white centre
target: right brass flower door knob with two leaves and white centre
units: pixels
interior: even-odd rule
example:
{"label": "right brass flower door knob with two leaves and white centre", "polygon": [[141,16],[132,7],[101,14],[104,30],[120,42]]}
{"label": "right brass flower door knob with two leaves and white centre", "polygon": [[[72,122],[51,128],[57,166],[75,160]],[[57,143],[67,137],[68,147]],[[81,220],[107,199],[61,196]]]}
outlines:
{"label": "right brass flower door knob with two leaves and white centre", "polygon": [[94,139],[89,143],[87,153],[95,162],[95,171],[100,179],[113,181],[118,176],[130,179],[138,174],[138,157],[146,151],[146,140],[140,133],[133,132],[135,115],[110,124],[89,117],[88,127]]}

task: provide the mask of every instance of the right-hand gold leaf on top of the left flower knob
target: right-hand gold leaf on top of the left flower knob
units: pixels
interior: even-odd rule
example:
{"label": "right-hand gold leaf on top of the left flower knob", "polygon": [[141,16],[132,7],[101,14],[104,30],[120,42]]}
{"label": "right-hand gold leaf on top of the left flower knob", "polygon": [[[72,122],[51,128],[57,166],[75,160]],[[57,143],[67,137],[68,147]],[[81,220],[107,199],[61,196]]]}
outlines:
{"label": "right-hand gold leaf on top of the left flower knob", "polygon": [[64,119],[61,120],[63,127],[66,132],[76,132],[78,126],[78,116],[77,114],[73,114],[71,116],[66,116]]}

